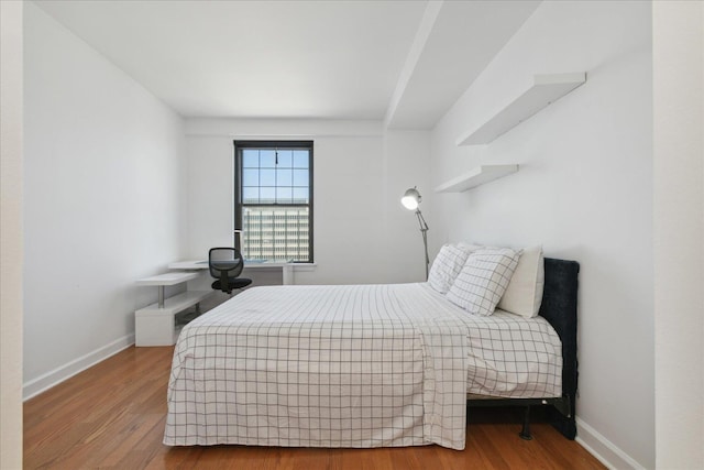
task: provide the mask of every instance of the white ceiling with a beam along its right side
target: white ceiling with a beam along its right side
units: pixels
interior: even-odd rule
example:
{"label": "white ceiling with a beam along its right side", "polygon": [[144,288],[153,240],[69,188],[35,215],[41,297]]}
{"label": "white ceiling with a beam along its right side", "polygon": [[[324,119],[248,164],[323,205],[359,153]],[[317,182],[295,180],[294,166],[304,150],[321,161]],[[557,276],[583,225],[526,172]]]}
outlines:
{"label": "white ceiling with a beam along its right side", "polygon": [[539,1],[35,3],[185,117],[429,129]]}

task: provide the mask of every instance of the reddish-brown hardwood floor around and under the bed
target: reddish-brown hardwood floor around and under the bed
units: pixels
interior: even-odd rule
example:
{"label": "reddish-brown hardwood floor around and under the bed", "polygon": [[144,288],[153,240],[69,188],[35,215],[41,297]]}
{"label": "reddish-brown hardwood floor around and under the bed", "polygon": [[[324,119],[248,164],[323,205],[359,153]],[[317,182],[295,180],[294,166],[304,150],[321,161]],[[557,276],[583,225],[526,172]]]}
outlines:
{"label": "reddish-brown hardwood floor around and under the bed", "polygon": [[603,469],[542,423],[518,437],[517,411],[473,409],[462,451],[179,447],[162,444],[173,348],[129,348],[24,404],[25,469]]}

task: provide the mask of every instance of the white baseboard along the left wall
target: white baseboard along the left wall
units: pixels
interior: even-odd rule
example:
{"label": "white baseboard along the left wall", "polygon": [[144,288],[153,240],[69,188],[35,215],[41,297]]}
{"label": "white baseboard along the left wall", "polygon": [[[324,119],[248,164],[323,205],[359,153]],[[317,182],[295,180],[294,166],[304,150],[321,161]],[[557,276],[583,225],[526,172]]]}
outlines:
{"label": "white baseboard along the left wall", "polygon": [[98,348],[92,352],[81,356],[78,359],[70,361],[59,368],[54,369],[34,380],[31,380],[22,385],[22,400],[28,401],[33,396],[38,395],[42,392],[64,382],[65,380],[76,375],[79,372],[85,371],[91,365],[98,362],[105,361],[111,356],[129,348],[134,345],[134,334],[119,338],[109,345]]}

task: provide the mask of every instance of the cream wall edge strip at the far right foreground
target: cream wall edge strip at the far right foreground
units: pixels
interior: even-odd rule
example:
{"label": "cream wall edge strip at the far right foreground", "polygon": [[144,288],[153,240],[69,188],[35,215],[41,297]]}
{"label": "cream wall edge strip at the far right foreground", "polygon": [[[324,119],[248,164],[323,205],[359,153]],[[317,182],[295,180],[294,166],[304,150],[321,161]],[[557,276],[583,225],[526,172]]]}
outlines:
{"label": "cream wall edge strip at the far right foreground", "polygon": [[704,468],[704,3],[653,3],[657,467]]}

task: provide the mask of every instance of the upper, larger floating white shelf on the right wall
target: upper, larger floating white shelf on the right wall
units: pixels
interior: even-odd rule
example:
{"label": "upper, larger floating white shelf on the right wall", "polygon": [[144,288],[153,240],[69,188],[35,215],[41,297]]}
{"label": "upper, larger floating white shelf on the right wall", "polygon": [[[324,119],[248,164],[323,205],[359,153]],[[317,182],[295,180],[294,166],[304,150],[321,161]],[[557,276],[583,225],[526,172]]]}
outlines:
{"label": "upper, larger floating white shelf on the right wall", "polygon": [[585,81],[586,74],[583,72],[576,74],[536,75],[530,88],[492,119],[463,134],[458,139],[457,144],[479,145],[490,143]]}

